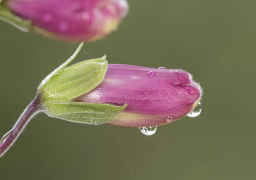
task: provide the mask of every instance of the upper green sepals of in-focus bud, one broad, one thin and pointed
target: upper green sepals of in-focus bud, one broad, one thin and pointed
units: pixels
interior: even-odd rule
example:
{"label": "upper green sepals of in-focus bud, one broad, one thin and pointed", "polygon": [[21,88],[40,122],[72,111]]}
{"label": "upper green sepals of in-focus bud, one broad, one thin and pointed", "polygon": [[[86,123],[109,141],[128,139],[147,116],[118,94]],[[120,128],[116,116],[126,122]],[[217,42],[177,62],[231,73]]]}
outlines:
{"label": "upper green sepals of in-focus bud, one broad, one thin and pointed", "polygon": [[82,45],[80,44],[77,51],[68,61],[42,81],[38,92],[43,102],[49,100],[69,101],[87,93],[100,84],[108,66],[105,56],[66,67],[74,59],[81,47]]}

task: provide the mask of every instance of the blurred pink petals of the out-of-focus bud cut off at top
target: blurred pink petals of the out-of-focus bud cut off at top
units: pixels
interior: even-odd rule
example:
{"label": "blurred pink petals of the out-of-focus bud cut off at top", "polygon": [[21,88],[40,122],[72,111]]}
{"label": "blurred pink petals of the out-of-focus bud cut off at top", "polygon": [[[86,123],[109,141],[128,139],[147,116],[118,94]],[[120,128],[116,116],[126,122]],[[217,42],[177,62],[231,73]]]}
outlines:
{"label": "blurred pink petals of the out-of-focus bud cut off at top", "polygon": [[95,41],[115,30],[128,11],[125,0],[7,0],[33,30],[64,41]]}

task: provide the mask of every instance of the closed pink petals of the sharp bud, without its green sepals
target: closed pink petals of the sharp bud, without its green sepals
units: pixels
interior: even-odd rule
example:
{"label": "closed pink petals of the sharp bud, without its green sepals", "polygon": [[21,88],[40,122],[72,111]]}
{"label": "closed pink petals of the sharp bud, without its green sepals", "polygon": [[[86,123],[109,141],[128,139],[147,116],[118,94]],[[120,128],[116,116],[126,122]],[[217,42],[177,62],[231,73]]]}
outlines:
{"label": "closed pink petals of the sharp bud, without its green sepals", "polygon": [[200,85],[186,71],[109,64],[101,84],[72,101],[127,104],[109,124],[150,127],[184,117],[201,95]]}

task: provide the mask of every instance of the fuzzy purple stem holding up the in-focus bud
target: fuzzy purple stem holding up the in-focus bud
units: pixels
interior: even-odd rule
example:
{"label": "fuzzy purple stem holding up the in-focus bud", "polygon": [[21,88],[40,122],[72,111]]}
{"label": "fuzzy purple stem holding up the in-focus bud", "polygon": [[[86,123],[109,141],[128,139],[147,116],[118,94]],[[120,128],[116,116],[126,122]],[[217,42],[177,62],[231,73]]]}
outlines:
{"label": "fuzzy purple stem holding up the in-focus bud", "polygon": [[3,156],[3,154],[13,145],[30,119],[41,111],[42,106],[37,95],[35,99],[33,99],[33,101],[31,101],[31,103],[26,107],[26,109],[24,109],[13,128],[0,139],[0,157]]}

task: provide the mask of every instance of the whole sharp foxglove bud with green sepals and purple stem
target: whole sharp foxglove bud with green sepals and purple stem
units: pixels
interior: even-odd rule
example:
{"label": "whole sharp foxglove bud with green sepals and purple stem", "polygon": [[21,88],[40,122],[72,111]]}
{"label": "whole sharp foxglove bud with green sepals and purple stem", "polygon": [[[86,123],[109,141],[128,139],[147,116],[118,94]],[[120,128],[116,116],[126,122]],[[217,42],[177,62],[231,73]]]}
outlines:
{"label": "whole sharp foxglove bud with green sepals and purple stem", "polygon": [[82,44],[38,86],[35,99],[0,139],[0,157],[38,112],[85,124],[151,128],[185,116],[200,101],[202,90],[186,71],[108,65],[105,56],[67,66]]}

